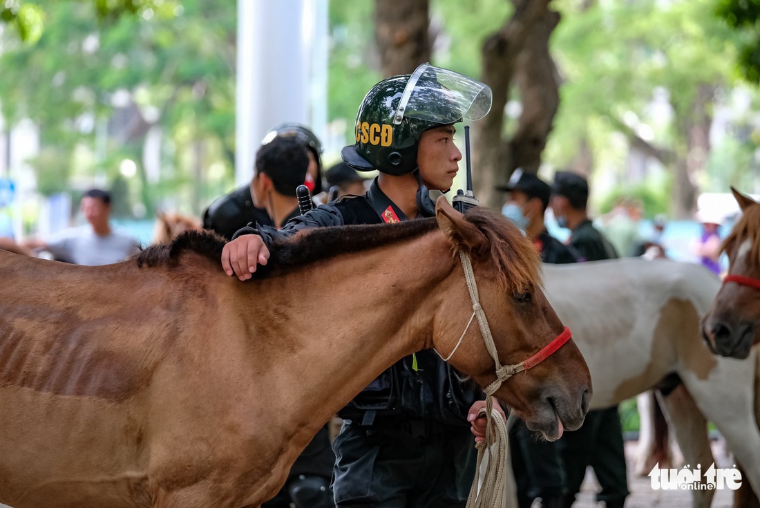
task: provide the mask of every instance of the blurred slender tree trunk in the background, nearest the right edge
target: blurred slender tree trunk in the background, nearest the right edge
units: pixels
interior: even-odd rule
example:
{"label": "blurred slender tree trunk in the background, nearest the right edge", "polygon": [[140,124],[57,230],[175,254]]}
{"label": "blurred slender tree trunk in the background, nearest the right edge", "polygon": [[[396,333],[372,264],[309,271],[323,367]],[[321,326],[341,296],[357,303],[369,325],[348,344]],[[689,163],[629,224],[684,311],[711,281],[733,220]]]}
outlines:
{"label": "blurred slender tree trunk in the background, nearest the right edge", "polygon": [[679,156],[676,162],[672,194],[672,211],[676,218],[690,218],[697,208],[696,182],[710,157],[710,106],[714,94],[714,85],[700,84],[688,117],[677,124],[682,125],[681,132],[686,136],[686,156]]}

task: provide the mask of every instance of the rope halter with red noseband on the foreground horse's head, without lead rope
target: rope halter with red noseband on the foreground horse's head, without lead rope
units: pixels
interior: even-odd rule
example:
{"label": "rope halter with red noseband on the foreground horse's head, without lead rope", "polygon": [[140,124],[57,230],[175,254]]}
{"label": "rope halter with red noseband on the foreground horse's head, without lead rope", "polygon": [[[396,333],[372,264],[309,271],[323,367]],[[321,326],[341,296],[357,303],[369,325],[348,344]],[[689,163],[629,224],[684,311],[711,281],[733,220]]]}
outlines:
{"label": "rope halter with red noseband on the foreground horse's head, without lead rope", "polygon": [[543,360],[546,360],[546,358],[555,353],[559,348],[562,348],[562,345],[570,340],[572,333],[570,332],[570,329],[565,326],[562,333],[557,335],[551,342],[549,342],[549,344],[546,344],[541,351],[538,351],[532,357],[521,361],[519,364],[502,365],[499,361],[499,352],[496,351],[496,343],[493,341],[491,329],[489,328],[488,320],[486,319],[486,313],[483,312],[483,306],[480,305],[480,297],[477,292],[477,283],[475,282],[475,273],[473,272],[472,262],[470,262],[470,256],[467,256],[466,253],[460,250],[459,259],[462,263],[462,268],[464,268],[464,280],[467,281],[467,289],[470,291],[470,300],[472,300],[473,303],[473,313],[472,316],[470,316],[470,320],[467,322],[467,326],[464,328],[464,332],[462,332],[457,345],[454,346],[454,349],[448,357],[442,358],[444,361],[448,361],[454,356],[454,353],[457,352],[457,349],[464,339],[464,335],[467,335],[467,330],[470,329],[473,319],[477,317],[478,325],[480,325],[480,335],[483,336],[483,342],[486,343],[486,349],[491,355],[494,363],[496,363],[496,381],[483,389],[483,392],[486,392],[486,395],[493,395],[496,390],[502,386],[502,383],[511,376],[514,376],[516,373],[522,372],[523,370],[536,367]]}

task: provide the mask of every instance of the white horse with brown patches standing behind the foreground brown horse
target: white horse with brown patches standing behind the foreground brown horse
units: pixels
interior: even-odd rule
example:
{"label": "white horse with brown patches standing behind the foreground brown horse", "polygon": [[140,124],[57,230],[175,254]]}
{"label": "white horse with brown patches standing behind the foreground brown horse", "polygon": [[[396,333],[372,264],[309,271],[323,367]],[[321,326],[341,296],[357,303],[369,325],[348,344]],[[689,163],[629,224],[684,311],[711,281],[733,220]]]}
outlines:
{"label": "white horse with brown patches standing behind the foreground brown horse", "polygon": [[[591,370],[592,409],[616,405],[677,373],[686,390],[661,402],[686,464],[705,470],[714,462],[712,421],[760,495],[758,348],[751,360],[717,357],[699,331],[720,287],[717,277],[689,263],[629,258],[544,265],[543,280]],[[714,492],[693,494],[694,506],[707,508]]]}

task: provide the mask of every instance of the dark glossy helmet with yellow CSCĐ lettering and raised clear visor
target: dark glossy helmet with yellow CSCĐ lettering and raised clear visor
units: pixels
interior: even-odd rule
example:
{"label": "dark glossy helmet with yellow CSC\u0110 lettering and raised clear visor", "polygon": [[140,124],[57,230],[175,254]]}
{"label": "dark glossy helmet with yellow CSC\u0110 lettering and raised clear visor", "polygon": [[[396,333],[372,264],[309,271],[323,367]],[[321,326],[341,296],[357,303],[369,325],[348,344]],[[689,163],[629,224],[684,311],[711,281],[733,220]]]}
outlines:
{"label": "dark glossy helmet with yellow CSC\u0110 lettering and raised clear visor", "polygon": [[411,75],[385,79],[369,90],[356,115],[356,143],[340,156],[359,171],[411,173],[423,132],[481,119],[490,109],[491,89],[485,84],[426,63]]}

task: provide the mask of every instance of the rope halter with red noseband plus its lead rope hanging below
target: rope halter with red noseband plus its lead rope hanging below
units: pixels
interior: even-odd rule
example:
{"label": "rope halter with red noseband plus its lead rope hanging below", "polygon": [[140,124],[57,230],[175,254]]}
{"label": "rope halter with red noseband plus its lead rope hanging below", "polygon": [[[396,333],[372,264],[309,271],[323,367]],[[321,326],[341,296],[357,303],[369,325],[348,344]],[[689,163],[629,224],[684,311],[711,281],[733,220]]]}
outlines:
{"label": "rope halter with red noseband plus its lead rope hanging below", "polygon": [[[454,346],[454,350],[444,360],[448,361],[454,355],[462,343],[464,335],[467,334],[467,330],[470,329],[473,319],[477,317],[478,325],[480,325],[480,334],[486,343],[486,349],[496,363],[496,381],[483,389],[486,392],[486,408],[480,412],[485,412],[486,414],[486,443],[479,443],[477,445],[477,469],[475,471],[473,486],[470,488],[470,495],[467,497],[467,508],[506,508],[507,497],[504,475],[507,461],[507,424],[502,415],[493,408],[492,395],[511,376],[535,367],[541,361],[546,360],[546,358],[561,348],[565,342],[570,340],[572,334],[570,333],[570,329],[565,326],[562,333],[549,342],[549,344],[546,344],[537,354],[534,354],[527,360],[521,361],[519,364],[502,365],[499,361],[499,353],[496,351],[496,344],[491,335],[491,329],[486,320],[486,314],[483,313],[483,307],[480,306],[480,297],[477,292],[477,284],[470,256],[459,251],[459,259],[462,263],[462,268],[464,268],[464,280],[467,281],[467,289],[470,291],[473,313],[457,345]],[[480,417],[480,414],[478,416]],[[480,466],[483,463],[483,456],[486,450],[489,450],[490,458],[486,465],[485,474],[481,478]]]}

